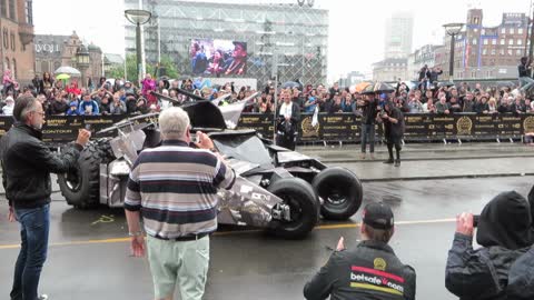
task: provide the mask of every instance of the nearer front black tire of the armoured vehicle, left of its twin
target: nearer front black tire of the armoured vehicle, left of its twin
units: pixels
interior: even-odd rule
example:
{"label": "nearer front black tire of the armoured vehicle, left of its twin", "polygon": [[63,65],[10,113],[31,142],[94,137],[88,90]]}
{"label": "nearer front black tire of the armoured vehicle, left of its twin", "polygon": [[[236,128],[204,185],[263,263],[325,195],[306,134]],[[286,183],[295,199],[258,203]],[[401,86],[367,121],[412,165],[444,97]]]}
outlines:
{"label": "nearer front black tire of the armoured vehicle, left of its twin", "polygon": [[301,239],[317,224],[319,201],[312,186],[299,178],[275,181],[268,191],[284,200],[290,208],[291,220],[274,220],[269,231],[285,239]]}

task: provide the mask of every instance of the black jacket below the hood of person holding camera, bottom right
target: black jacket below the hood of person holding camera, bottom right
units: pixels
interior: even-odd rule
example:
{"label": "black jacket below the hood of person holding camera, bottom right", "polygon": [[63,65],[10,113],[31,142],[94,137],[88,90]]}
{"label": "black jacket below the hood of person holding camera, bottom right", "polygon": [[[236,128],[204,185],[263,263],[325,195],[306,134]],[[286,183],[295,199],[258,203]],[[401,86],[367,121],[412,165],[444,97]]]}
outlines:
{"label": "black jacket below the hood of person holding camera, bottom right", "polygon": [[472,244],[472,237],[455,234],[445,271],[447,290],[461,300],[534,299],[534,248],[473,250]]}

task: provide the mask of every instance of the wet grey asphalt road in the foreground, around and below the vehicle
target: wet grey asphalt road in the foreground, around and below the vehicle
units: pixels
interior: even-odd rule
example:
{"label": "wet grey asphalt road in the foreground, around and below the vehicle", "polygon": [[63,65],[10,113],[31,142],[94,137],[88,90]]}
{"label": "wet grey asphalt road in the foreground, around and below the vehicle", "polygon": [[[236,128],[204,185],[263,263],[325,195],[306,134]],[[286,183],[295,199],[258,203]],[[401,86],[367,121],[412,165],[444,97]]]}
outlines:
{"label": "wet grey asphalt road in the foreground, around and below the vehicle", "polygon": [[[365,202],[385,201],[395,212],[392,244],[417,271],[417,299],[455,299],[444,288],[444,268],[461,211],[479,212],[504,190],[528,192],[534,177],[366,182]],[[79,211],[56,193],[51,218],[52,246],[41,291],[53,300],[151,299],[148,263],[128,256],[125,217],[120,210]],[[16,223],[6,221],[0,204],[0,298],[7,299],[18,249]],[[260,231],[221,227],[211,238],[211,262],[205,299],[303,299],[307,279],[327,260],[340,236],[350,247],[359,238],[359,212],[348,222],[322,222],[308,238],[286,241]],[[422,222],[423,221],[423,222]],[[427,221],[427,222],[426,222]],[[91,240],[93,243],[91,243]],[[103,241],[102,241],[103,240]],[[72,241],[83,241],[81,244]],[[180,299],[178,293],[176,299]]]}

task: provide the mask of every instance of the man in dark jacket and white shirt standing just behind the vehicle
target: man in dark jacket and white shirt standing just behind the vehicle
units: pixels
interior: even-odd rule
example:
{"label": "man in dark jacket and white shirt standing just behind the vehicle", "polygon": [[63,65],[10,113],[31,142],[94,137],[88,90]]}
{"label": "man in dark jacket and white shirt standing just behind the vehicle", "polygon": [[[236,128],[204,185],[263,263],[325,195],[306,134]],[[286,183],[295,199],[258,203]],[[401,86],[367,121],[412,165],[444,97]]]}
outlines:
{"label": "man in dark jacket and white shirt standing just behind the vehicle", "polygon": [[291,97],[287,90],[281,90],[280,100],[283,103],[278,107],[276,114],[276,144],[289,150],[295,150],[298,122],[300,121],[300,109],[291,101]]}

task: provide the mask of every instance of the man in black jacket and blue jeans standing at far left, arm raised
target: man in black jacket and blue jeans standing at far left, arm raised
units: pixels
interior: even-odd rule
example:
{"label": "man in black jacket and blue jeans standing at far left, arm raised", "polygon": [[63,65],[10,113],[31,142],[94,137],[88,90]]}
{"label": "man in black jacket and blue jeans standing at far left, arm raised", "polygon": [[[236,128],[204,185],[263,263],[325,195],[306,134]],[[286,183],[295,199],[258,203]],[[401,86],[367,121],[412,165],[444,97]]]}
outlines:
{"label": "man in black jacket and blue jeans standing at far left, arm raised", "polygon": [[80,130],[75,144],[55,153],[41,141],[44,111],[31,96],[17,99],[14,126],[0,141],[2,183],[9,201],[9,221],[20,223],[21,249],[14,267],[12,300],[47,299],[37,289],[47,259],[50,227],[50,172],[76,166],[90,132]]}

